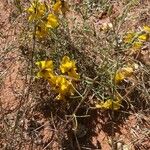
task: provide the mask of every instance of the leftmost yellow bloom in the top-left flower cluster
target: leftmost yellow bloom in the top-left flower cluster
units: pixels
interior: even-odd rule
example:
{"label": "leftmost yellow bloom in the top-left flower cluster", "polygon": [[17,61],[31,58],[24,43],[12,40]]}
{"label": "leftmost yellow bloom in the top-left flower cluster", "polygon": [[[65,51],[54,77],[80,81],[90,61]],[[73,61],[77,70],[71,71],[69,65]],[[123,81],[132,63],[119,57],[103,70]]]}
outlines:
{"label": "leftmost yellow bloom in the top-left flower cluster", "polygon": [[39,20],[44,16],[46,10],[45,4],[38,1],[33,2],[27,9],[27,12],[29,13],[29,21]]}

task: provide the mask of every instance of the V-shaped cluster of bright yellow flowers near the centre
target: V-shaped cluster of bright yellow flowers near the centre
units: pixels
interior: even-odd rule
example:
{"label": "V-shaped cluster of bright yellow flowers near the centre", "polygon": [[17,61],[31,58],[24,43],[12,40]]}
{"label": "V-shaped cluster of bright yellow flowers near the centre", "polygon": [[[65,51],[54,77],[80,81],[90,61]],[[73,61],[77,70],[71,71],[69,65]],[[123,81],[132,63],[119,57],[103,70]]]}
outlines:
{"label": "V-shaped cluster of bright yellow flowers near the centre", "polygon": [[56,99],[64,100],[75,93],[75,84],[79,79],[75,61],[70,60],[68,56],[63,57],[59,66],[62,75],[54,73],[53,61],[51,60],[39,61],[36,65],[40,69],[37,77],[42,77],[49,82],[52,90],[58,94]]}

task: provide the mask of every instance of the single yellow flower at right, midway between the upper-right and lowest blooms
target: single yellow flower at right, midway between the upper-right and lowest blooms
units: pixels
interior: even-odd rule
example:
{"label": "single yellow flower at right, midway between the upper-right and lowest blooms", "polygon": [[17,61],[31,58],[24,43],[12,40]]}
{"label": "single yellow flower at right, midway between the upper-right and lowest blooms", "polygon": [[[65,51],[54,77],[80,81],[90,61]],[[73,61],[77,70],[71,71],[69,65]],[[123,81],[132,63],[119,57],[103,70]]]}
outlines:
{"label": "single yellow flower at right, midway between the upper-right and lowest blooms", "polygon": [[133,74],[132,67],[123,67],[117,70],[115,75],[115,83],[123,81],[125,78],[130,77]]}

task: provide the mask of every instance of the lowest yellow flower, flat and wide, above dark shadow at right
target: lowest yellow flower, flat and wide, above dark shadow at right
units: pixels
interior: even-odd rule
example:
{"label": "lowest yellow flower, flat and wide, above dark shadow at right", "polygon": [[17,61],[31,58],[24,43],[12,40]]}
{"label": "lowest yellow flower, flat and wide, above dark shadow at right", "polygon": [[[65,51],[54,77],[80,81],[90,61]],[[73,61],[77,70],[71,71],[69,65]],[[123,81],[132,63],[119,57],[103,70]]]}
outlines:
{"label": "lowest yellow flower, flat and wide, above dark shadow at right", "polygon": [[96,104],[96,108],[101,108],[101,109],[113,109],[113,110],[118,110],[120,109],[121,106],[121,100],[116,99],[107,99],[105,102],[101,102],[100,104]]}

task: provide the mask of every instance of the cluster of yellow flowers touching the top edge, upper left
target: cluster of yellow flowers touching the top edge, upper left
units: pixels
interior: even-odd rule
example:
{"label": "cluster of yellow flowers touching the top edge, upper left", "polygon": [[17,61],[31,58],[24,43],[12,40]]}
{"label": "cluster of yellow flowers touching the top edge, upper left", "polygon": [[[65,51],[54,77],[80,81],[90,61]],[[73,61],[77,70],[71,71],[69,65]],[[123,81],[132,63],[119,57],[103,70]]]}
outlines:
{"label": "cluster of yellow flowers touching the top edge, upper left", "polygon": [[50,30],[56,29],[59,26],[59,14],[65,15],[68,9],[67,3],[61,0],[57,0],[52,5],[38,0],[33,1],[27,9],[27,13],[29,14],[29,22],[35,23],[36,36],[45,38]]}

